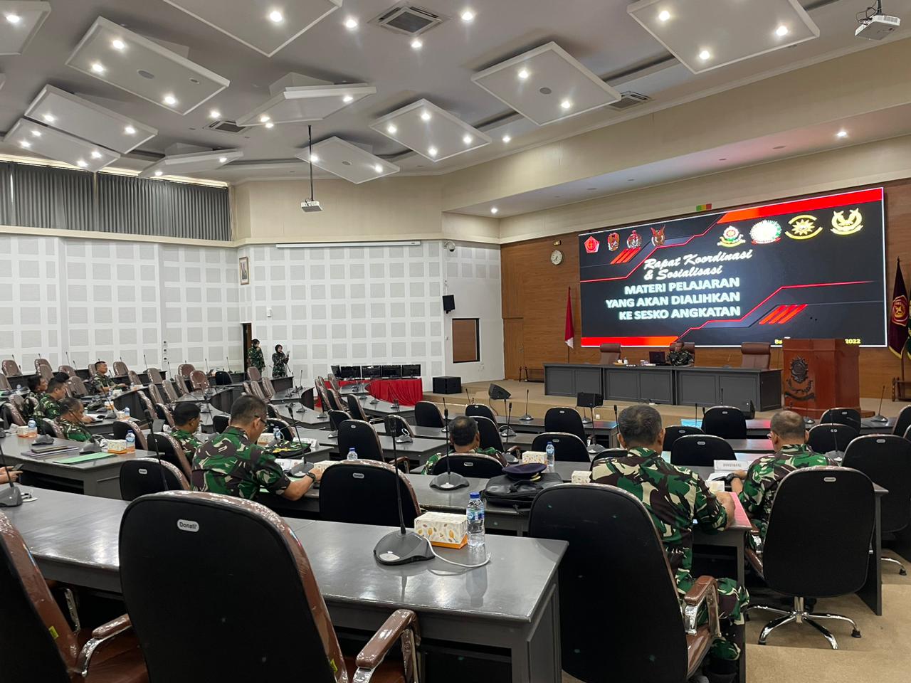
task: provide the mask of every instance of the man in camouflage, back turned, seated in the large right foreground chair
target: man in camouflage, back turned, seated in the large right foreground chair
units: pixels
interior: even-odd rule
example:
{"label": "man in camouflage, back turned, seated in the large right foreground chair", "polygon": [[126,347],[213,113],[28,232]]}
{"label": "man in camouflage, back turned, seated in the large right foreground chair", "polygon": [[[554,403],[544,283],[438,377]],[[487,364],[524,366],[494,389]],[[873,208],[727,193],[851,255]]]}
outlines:
{"label": "man in camouflage, back turned, seated in the large right foreground chair", "polygon": [[[723,531],[733,521],[733,500],[730,494],[712,494],[698,474],[664,461],[664,429],[654,408],[634,405],[620,413],[619,440],[628,453],[596,466],[591,480],[617,486],[642,501],[658,530],[682,598],[694,583],[693,519],[705,533]],[[730,578],[718,579],[718,593],[722,637],[711,644],[707,675],[710,681],[721,683],[737,675],[749,596]]]}

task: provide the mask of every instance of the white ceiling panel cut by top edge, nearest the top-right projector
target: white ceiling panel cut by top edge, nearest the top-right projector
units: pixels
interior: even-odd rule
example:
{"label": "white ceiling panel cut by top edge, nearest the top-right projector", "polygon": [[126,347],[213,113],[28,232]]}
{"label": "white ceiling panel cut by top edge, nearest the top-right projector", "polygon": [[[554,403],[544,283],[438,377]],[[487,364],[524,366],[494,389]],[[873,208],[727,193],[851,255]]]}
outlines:
{"label": "white ceiling panel cut by top edge, nearest the top-right projector", "polygon": [[639,0],[627,12],[694,74],[819,37],[797,0]]}

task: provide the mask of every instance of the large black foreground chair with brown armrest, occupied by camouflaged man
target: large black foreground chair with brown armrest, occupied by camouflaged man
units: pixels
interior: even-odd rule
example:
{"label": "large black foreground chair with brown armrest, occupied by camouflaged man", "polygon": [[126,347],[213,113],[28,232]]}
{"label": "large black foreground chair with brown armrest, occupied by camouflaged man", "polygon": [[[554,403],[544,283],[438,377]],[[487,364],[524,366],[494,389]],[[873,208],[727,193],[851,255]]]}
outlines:
{"label": "large black foreground chair with brown armrest, occupied by camouflaged man", "polygon": [[637,498],[603,484],[552,486],[531,505],[528,535],[569,542],[558,570],[564,671],[586,683],[684,683],[698,672],[721,632],[717,583],[700,576],[681,610],[664,548]]}

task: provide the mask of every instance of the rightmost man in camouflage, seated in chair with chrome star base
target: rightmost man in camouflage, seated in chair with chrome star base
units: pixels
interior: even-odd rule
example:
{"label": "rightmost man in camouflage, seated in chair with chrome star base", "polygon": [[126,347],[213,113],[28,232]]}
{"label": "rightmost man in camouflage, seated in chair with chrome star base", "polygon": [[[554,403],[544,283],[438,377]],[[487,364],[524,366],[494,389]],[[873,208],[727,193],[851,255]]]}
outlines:
{"label": "rightmost man in camouflage, seated in chair with chrome star base", "polygon": [[[734,473],[736,476],[731,482],[732,491],[740,498],[743,509],[759,529],[763,541],[772,503],[782,479],[801,467],[835,464],[825,455],[814,453],[806,444],[804,418],[792,411],[773,415],[769,439],[775,453],[754,460],[747,472]],[[759,549],[755,536],[750,535],[749,542],[753,550]]]}

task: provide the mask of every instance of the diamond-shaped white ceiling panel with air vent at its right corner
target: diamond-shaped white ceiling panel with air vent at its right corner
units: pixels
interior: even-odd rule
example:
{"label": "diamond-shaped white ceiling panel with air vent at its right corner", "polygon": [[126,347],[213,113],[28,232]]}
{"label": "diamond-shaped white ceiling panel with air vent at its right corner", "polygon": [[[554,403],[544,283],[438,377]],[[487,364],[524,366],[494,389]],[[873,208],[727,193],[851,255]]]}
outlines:
{"label": "diamond-shaped white ceiling panel with air vent at its right corner", "polygon": [[548,43],[472,76],[478,86],[538,126],[584,114],[620,98],[556,43]]}

